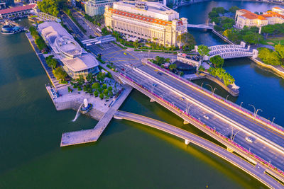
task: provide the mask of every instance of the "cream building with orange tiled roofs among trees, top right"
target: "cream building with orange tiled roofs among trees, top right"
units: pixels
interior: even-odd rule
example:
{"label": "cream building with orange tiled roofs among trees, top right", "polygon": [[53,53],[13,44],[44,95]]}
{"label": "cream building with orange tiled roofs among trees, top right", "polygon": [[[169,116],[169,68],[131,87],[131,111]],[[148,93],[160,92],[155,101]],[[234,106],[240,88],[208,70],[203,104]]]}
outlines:
{"label": "cream building with orange tiled roofs among trees, top right", "polygon": [[[252,13],[246,9],[236,11],[236,27],[244,28],[244,26],[262,27],[264,25],[284,23],[284,15],[281,14],[282,8],[273,8],[273,11],[267,11],[261,15]],[[276,11],[275,11],[276,10]],[[283,9],[282,9],[283,11]],[[283,12],[282,12],[283,13]]]}

